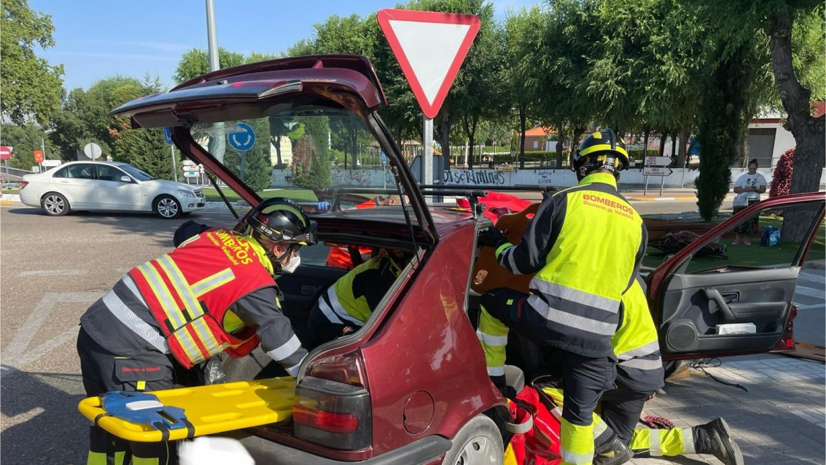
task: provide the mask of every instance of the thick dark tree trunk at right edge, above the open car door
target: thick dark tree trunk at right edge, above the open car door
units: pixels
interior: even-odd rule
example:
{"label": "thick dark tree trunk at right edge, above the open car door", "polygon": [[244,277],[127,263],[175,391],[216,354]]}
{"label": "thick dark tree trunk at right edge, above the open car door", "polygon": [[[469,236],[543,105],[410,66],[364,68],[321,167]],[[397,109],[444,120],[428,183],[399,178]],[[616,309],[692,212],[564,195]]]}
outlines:
{"label": "thick dark tree trunk at right edge, above the open car door", "polygon": [[791,173],[790,194],[814,192],[819,189],[820,176],[826,159],[826,120],[811,117],[811,91],[800,85],[791,64],[792,17],[778,10],[769,18],[768,35],[771,44],[771,67],[783,108],[788,113],[789,131],[795,137],[794,170]]}

